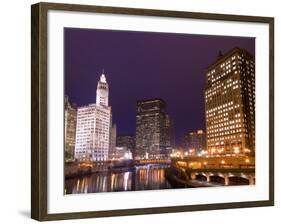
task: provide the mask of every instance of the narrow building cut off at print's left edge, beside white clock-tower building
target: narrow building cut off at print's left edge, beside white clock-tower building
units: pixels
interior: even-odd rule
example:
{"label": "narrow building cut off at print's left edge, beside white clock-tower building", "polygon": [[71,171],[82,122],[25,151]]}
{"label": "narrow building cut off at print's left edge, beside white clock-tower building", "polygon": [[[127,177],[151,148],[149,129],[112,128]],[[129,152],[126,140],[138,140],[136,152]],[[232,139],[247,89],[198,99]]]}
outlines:
{"label": "narrow building cut off at print's left edge, beside white clock-tower building", "polygon": [[74,159],[75,135],[77,110],[71,104],[68,96],[64,99],[64,138],[65,138],[65,160]]}

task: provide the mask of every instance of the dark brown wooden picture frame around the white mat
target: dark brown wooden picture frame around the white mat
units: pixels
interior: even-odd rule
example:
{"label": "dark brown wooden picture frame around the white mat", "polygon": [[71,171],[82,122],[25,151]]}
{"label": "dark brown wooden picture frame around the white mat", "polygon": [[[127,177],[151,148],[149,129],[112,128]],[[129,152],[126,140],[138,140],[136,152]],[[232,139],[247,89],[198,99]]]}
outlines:
{"label": "dark brown wooden picture frame around the white mat", "polygon": [[[168,206],[126,210],[88,211],[48,214],[47,203],[47,13],[49,10],[99,12],[158,16],[166,18],[194,18],[263,23],[269,25],[269,199],[264,201],[217,203],[203,205]],[[38,3],[31,6],[31,217],[39,221],[79,219],[169,212],[187,212],[226,208],[245,208],[274,205],[274,18],[223,15],[182,11],[164,11],[137,8],[118,8],[90,5]]]}

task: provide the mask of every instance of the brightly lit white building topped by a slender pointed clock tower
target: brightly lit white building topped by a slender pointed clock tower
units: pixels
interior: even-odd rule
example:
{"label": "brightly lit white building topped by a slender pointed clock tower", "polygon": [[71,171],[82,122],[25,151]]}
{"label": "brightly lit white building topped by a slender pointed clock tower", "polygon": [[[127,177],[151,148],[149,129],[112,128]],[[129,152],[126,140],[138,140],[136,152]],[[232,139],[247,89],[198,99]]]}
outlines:
{"label": "brightly lit white building topped by a slender pointed clock tower", "polygon": [[96,104],[78,108],[75,158],[80,161],[108,160],[111,132],[108,95],[108,83],[102,74],[97,85]]}

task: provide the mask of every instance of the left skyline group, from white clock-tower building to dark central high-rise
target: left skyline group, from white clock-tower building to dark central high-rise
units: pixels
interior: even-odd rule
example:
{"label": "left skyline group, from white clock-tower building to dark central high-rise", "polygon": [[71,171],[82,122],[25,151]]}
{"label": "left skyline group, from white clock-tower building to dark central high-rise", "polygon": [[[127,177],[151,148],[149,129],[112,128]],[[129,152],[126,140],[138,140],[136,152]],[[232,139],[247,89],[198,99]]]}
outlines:
{"label": "left skyline group, from white clock-tower building to dark central high-rise", "polygon": [[165,101],[160,98],[137,101],[136,135],[117,136],[108,97],[104,73],[98,81],[95,104],[76,108],[65,96],[65,160],[168,158],[175,140]]}

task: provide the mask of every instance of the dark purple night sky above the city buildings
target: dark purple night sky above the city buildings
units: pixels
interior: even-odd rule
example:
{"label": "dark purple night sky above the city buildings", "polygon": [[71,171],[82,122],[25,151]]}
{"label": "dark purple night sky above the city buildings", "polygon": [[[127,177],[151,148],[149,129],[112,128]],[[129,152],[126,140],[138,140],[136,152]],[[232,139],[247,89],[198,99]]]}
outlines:
{"label": "dark purple night sky above the city buildings", "polygon": [[203,129],[205,69],[219,51],[241,47],[255,55],[255,39],[65,28],[65,94],[77,106],[95,103],[104,69],[117,135],[135,134],[136,101],[162,98],[184,133]]}

